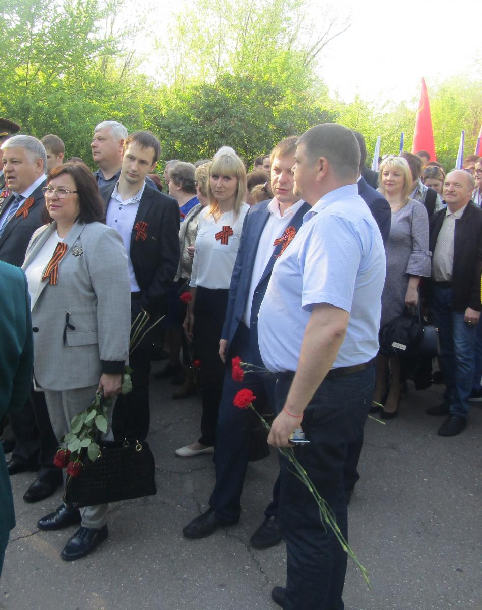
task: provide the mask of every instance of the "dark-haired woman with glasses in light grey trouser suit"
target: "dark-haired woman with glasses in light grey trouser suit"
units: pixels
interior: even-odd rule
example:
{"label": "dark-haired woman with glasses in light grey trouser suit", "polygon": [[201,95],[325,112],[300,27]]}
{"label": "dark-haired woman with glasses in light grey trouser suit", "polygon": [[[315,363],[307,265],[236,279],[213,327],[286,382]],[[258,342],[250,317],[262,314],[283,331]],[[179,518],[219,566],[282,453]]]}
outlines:
{"label": "dark-haired woman with glasses in light grey trouser suit", "polygon": [[[128,358],[131,289],[120,234],[101,223],[103,204],[87,166],[65,163],[44,187],[48,224],[27,248],[23,270],[31,296],[34,382],[45,392],[60,439],[95,392],[120,392]],[[112,413],[110,414],[110,418]],[[107,432],[107,440],[112,432]],[[44,530],[81,522],[61,556],[90,553],[107,538],[107,505],[73,511],[62,504],[38,522]]]}

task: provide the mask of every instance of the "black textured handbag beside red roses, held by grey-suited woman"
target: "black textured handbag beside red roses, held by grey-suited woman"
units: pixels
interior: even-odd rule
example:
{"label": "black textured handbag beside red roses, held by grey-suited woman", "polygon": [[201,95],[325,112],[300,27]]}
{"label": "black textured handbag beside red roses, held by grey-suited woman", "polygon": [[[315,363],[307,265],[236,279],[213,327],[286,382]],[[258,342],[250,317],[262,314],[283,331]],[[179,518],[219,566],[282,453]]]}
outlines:
{"label": "black textured handbag beside red roses, held by grey-suited woman", "polygon": [[156,493],[154,457],[146,441],[104,442],[99,457],[87,455],[79,476],[68,476],[63,501],[71,508],[142,498]]}

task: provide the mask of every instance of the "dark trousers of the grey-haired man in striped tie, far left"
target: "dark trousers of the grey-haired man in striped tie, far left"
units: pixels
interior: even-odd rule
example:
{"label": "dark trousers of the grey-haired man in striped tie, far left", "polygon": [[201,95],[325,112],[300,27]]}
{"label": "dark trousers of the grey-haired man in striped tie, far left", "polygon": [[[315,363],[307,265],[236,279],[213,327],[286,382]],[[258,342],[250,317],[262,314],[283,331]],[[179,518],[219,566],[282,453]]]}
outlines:
{"label": "dark trousers of the grey-haired man in striped tie, far left", "polygon": [[23,409],[10,412],[9,417],[15,434],[13,456],[27,462],[38,461],[39,477],[48,472],[59,472],[61,478],[62,473],[54,466],[59,442],[52,430],[44,393],[34,392],[32,386]]}

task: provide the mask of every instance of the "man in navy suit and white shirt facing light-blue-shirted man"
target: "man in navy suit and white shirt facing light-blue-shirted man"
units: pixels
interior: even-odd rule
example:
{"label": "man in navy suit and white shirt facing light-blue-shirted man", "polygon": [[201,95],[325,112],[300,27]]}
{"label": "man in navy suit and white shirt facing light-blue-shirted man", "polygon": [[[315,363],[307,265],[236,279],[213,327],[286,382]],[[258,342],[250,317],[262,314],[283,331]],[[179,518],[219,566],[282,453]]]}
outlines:
{"label": "man in navy suit and white shirt facing light-blue-shirted man", "polygon": [[[183,533],[188,538],[210,536],[220,526],[239,521],[240,497],[249,459],[251,428],[257,416],[250,409],[238,409],[233,398],[242,388],[256,395],[257,411],[274,413],[275,378],[264,371],[246,373],[242,382],[231,375],[231,358],[264,367],[257,345],[257,313],[261,306],[275,260],[303,222],[310,206],[293,194],[291,168],[295,163],[297,137],[282,140],[270,160],[271,186],[275,197],[251,207],[246,215],[236,264],[229,289],[225,326],[220,340],[220,356],[226,362],[226,376],[219,407],[215,439],[216,483],[207,512],[196,517]],[[280,332],[281,329],[280,329]],[[255,421],[259,427],[259,420]],[[255,548],[268,548],[281,540],[278,528],[278,484],[265,520],[251,537]]]}

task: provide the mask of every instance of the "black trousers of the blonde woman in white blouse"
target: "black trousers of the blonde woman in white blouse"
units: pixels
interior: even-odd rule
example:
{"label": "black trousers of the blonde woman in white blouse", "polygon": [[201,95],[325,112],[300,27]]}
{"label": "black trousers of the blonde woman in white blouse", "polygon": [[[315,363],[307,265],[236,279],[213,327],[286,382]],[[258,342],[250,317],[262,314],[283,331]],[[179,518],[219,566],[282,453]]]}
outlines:
{"label": "black trousers of the blonde woman in white blouse", "polygon": [[223,391],[225,365],[219,357],[219,340],[228,307],[229,290],[198,286],[194,304],[194,349],[201,361],[203,402],[201,437],[198,442],[212,447],[215,442],[218,409]]}

